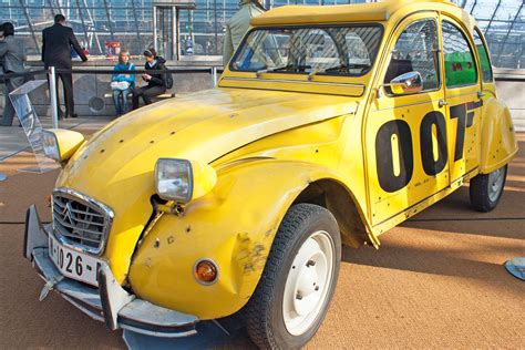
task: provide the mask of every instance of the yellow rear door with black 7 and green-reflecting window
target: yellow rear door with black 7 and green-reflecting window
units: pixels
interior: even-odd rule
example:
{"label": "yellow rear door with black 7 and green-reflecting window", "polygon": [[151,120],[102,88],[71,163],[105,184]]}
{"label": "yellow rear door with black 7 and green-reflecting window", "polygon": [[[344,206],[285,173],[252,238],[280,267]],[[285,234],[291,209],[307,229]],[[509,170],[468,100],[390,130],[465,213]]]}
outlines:
{"label": "yellow rear door with black 7 and green-reflecting window", "polygon": [[449,17],[443,16],[441,20],[450,176],[453,186],[460,186],[463,177],[475,175],[478,167],[481,79],[466,31]]}

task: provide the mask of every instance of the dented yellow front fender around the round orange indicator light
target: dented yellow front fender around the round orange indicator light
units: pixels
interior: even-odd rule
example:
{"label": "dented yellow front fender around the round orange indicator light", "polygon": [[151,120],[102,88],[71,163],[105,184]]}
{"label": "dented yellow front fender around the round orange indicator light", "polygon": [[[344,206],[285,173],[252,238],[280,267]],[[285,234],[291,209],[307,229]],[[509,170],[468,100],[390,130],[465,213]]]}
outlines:
{"label": "dented yellow front fender around the round orange indicator light", "polygon": [[[340,179],[316,164],[258,159],[218,169],[217,185],[184,215],[163,215],[130,270],[142,299],[199,319],[238,311],[253,295],[286,212],[309,183]],[[214,285],[194,278],[197,260],[218,266]]]}

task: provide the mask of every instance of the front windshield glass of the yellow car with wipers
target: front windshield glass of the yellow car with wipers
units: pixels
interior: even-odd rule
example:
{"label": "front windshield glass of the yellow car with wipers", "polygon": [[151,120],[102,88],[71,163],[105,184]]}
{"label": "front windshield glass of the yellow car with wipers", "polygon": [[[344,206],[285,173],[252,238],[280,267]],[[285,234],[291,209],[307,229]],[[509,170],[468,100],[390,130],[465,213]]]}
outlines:
{"label": "front windshield glass of the yellow car with wipers", "polygon": [[380,25],[255,29],[230,70],[359,76],[372,68],[381,37]]}

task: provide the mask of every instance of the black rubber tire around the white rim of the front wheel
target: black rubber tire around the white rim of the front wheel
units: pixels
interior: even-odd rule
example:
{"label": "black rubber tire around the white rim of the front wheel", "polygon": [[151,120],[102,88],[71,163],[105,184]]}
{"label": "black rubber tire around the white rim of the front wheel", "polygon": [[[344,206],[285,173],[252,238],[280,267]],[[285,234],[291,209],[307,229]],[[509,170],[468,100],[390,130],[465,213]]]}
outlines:
{"label": "black rubber tire around the white rim of the front wheel", "polygon": [[[333,248],[330,249],[331,280],[328,278],[330,281],[327,281],[321,290],[321,295],[325,295],[326,289],[326,295],[325,298],[319,298],[322,301],[317,306],[322,306],[318,311],[311,312],[317,315],[312,316],[311,326],[303,333],[294,336],[287,330],[284,319],[285,286],[299,249],[311,235],[319,231],[322,231],[322,239],[328,238]],[[262,276],[246,307],[246,326],[251,340],[261,349],[298,349],[306,344],[317,332],[328,311],[339,276],[340,261],[341,237],[333,215],[317,205],[294,205],[279,226]],[[308,264],[306,266],[309,267]]]}

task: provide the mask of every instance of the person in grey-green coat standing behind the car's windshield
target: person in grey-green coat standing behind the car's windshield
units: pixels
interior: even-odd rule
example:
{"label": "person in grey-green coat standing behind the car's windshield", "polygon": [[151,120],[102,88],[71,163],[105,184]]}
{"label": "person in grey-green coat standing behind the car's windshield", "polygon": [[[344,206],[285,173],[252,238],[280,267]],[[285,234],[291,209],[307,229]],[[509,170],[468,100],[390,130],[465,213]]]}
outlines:
{"label": "person in grey-green coat standing behind the car's windshield", "polygon": [[223,64],[226,66],[249,29],[249,21],[266,11],[257,0],[240,0],[240,9],[226,23],[224,34]]}

